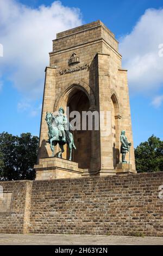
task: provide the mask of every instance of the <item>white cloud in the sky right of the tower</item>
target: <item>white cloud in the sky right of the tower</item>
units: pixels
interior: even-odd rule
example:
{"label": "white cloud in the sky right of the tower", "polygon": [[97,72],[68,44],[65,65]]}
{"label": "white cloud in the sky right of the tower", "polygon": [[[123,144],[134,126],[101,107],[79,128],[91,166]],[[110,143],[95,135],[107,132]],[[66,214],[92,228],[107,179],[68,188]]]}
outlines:
{"label": "white cloud in the sky right of the tower", "polygon": [[128,69],[131,92],[146,95],[163,86],[163,9],[147,9],[133,31],[120,39],[123,67]]}

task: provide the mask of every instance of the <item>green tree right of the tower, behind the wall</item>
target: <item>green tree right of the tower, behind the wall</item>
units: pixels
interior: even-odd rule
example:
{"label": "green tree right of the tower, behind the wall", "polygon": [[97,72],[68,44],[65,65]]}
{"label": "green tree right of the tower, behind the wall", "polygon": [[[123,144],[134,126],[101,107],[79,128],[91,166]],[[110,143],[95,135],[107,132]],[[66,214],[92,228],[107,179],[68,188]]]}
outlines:
{"label": "green tree right of the tower, behind the wall", "polygon": [[163,141],[152,135],[148,141],[135,149],[137,172],[159,172],[163,170]]}

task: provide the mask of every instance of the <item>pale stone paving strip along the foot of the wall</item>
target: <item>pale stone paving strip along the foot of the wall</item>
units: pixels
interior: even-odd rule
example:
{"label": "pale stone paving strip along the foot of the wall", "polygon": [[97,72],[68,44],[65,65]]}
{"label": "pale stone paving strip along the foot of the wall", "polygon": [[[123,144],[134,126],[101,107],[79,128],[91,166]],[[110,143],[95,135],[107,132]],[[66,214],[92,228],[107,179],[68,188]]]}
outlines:
{"label": "pale stone paving strip along the foot of the wall", "polygon": [[0,234],[0,245],[163,245],[163,237]]}

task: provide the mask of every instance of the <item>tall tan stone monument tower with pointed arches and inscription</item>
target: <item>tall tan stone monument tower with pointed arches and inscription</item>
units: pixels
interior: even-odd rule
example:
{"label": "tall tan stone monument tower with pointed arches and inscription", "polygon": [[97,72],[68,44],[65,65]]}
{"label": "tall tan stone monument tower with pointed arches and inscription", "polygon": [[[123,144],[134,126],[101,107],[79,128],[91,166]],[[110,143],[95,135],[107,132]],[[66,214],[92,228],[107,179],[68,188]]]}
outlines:
{"label": "tall tan stone monument tower with pointed arches and inscription", "polygon": [[[121,66],[122,56],[114,34],[99,20],[58,33],[49,56],[36,179],[136,172],[127,70]],[[68,161],[66,145],[62,159],[59,159],[52,157],[47,143],[46,112],[54,113],[60,106],[65,111],[69,109],[69,113],[81,113],[81,123],[83,111],[99,113],[99,129],[95,129],[92,118],[92,129],[72,132],[77,147],[72,161]],[[126,164],[120,163],[122,130],[126,131],[132,145],[126,156],[129,162],[130,155],[130,163]]]}

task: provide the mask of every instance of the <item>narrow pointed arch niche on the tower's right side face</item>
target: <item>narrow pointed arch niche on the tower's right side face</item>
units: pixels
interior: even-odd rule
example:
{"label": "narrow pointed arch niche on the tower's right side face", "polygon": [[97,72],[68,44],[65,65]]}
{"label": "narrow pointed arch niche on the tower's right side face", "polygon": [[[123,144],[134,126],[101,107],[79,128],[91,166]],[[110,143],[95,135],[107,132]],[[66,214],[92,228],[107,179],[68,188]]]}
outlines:
{"label": "narrow pointed arch niche on the tower's right side face", "polygon": [[116,169],[116,164],[120,162],[120,141],[119,141],[119,108],[117,97],[114,94],[111,96],[111,133],[112,133],[112,156],[113,166]]}

